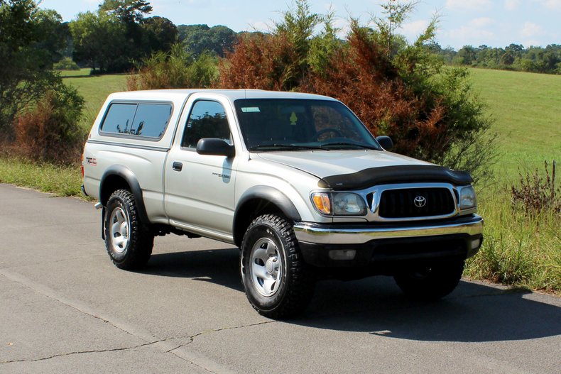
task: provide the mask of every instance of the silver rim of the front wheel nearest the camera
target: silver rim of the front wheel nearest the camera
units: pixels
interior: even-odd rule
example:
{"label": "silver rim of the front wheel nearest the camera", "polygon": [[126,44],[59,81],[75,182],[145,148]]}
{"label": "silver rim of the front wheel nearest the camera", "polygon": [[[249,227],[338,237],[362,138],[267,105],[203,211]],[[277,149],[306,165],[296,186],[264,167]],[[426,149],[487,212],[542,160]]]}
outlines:
{"label": "silver rim of the front wheel nearest the camera", "polygon": [[251,248],[250,273],[255,289],[265,297],[276,294],[283,275],[278,247],[270,238],[261,238]]}

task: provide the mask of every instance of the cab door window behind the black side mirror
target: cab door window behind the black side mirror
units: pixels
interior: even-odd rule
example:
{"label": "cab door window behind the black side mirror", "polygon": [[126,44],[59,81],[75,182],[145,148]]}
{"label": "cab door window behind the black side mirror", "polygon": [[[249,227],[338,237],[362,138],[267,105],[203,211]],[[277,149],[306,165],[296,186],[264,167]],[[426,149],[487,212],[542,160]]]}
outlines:
{"label": "cab door window behind the black side mirror", "polygon": [[220,138],[232,144],[226,111],[217,101],[195,101],[185,126],[181,146],[195,148],[200,138]]}

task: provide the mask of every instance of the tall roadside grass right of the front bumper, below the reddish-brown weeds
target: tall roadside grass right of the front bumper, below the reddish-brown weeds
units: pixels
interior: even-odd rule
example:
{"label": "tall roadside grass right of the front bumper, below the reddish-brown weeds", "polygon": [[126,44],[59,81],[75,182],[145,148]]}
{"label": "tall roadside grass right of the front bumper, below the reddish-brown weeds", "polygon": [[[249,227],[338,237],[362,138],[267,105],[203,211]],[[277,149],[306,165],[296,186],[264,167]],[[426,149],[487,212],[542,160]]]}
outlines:
{"label": "tall roadside grass right of the front bumper, below the reddish-brown weeds", "polygon": [[527,215],[501,185],[479,195],[478,213],[485,219],[484,245],[465,275],[561,295],[559,214]]}

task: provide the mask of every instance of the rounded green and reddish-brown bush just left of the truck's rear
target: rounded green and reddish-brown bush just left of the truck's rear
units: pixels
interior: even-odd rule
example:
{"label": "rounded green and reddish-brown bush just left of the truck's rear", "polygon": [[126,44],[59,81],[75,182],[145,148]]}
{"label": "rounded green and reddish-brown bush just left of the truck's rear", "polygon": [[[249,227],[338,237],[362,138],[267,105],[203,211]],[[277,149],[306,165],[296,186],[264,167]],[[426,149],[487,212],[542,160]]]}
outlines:
{"label": "rounded green and reddish-brown bush just left of the truck's rear", "polygon": [[16,116],[12,153],[32,161],[80,162],[87,136],[79,125],[83,106],[76,89],[62,83],[51,87],[30,109]]}

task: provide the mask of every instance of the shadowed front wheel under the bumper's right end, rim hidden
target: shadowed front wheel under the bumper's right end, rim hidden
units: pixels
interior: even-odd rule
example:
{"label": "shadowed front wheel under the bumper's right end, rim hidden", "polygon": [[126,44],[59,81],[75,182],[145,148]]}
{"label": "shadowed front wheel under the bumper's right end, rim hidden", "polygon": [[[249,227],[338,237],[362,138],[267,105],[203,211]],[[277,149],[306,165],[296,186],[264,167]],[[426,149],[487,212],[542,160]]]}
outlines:
{"label": "shadowed front wheel under the bumper's right end, rim hidden", "polygon": [[413,299],[435,300],[456,288],[464,271],[464,260],[442,260],[394,275],[401,290]]}

